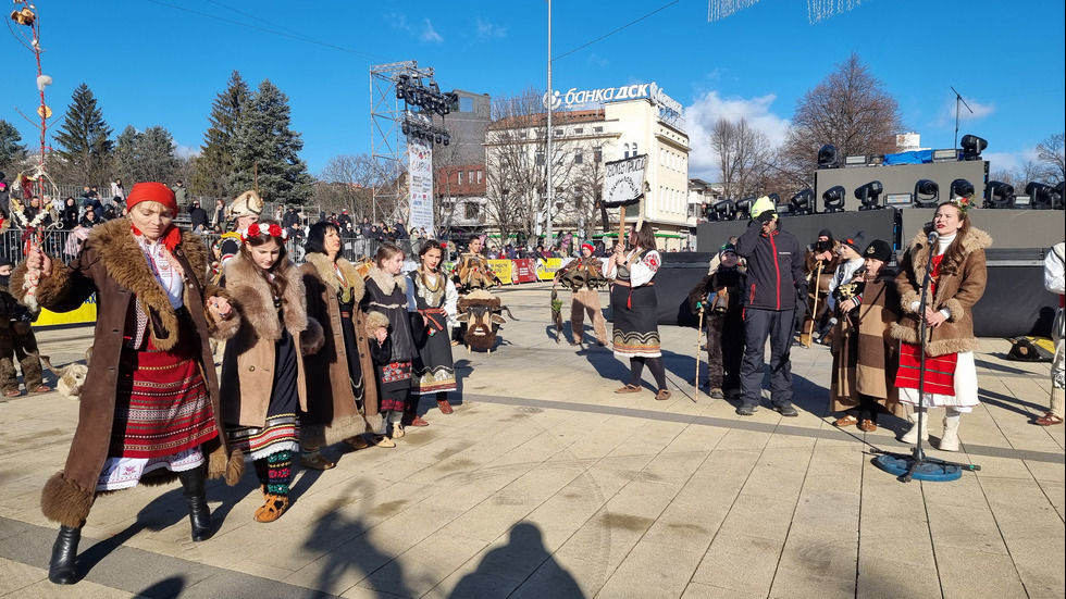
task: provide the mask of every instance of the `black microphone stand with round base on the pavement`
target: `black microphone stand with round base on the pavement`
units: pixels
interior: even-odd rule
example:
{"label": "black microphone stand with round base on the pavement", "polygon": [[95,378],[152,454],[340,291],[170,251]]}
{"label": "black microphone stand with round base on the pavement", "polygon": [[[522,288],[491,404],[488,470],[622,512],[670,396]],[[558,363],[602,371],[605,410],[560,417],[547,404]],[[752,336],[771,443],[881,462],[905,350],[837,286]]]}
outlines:
{"label": "black microphone stand with round base on the pavement", "polygon": [[[930,235],[929,255],[926,260],[926,273],[921,278],[921,296],[918,300],[918,341],[920,344],[919,349],[921,351],[918,357],[918,442],[915,444],[915,448],[912,450],[910,456],[891,453],[889,451],[882,451],[879,448],[873,448],[872,451],[873,453],[880,453],[906,463],[906,471],[900,475],[900,481],[904,483],[909,483],[914,478],[916,472],[918,473],[919,479],[955,481],[963,475],[962,471],[964,470],[970,472],[981,470],[981,466],[977,464],[949,462],[939,458],[929,458],[921,448],[921,430],[924,420],[926,417],[926,411],[924,410],[926,401],[926,346],[929,342],[930,328],[928,323],[926,323],[926,304],[929,298],[929,287],[930,284],[932,284],[932,259],[933,252],[935,251],[937,239],[932,238],[932,235]],[[887,464],[881,461],[879,462],[879,465],[884,466]],[[895,469],[900,465],[901,464],[893,464],[894,467],[885,470],[889,470],[889,472],[895,472]]]}

